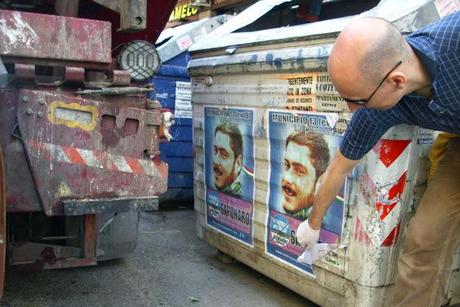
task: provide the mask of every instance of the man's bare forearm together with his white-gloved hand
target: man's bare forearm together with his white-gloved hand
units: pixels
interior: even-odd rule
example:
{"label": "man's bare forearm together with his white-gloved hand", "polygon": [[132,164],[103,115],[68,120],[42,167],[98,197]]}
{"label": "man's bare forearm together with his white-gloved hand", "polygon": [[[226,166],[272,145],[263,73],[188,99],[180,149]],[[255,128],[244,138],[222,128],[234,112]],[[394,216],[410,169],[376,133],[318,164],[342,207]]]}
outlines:
{"label": "man's bare forearm together with his white-gloved hand", "polygon": [[310,218],[299,225],[297,229],[297,240],[306,248],[313,247],[318,241],[319,229],[324,215],[326,215],[331,203],[340,191],[348,173],[358,164],[359,160],[346,158],[339,149],[329,164],[318,193],[315,195],[313,209]]}

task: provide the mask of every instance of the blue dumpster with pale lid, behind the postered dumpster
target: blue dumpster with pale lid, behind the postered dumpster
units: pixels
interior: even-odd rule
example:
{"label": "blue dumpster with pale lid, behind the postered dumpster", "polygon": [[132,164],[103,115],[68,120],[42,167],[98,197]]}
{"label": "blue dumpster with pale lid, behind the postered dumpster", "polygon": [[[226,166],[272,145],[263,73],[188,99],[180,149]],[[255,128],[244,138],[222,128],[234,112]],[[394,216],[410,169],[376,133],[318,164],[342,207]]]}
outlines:
{"label": "blue dumpster with pale lid, behind the postered dumpster", "polygon": [[162,203],[193,200],[192,105],[187,72],[191,57],[188,48],[226,20],[226,16],[218,16],[169,28],[157,41],[162,64],[150,81],[154,91],[149,96],[174,114],[172,139],[160,144],[160,157],[169,165],[168,190],[160,197]]}

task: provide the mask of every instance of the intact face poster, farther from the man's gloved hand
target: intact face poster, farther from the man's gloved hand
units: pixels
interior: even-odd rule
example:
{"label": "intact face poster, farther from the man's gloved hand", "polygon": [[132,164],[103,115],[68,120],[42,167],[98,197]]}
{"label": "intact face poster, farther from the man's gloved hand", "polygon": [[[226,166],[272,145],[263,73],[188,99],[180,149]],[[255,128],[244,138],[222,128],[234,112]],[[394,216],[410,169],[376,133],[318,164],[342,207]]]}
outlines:
{"label": "intact face poster, farther from the man's gloved hand", "polygon": [[253,110],[206,107],[206,223],[253,244]]}

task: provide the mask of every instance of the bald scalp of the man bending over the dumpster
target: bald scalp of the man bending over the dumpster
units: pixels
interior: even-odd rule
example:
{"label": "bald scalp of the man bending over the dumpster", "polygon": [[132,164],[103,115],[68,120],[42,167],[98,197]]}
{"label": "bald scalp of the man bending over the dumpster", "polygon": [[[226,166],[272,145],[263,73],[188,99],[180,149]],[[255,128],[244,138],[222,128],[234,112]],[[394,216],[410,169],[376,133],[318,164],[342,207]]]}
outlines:
{"label": "bald scalp of the man bending over the dumpster", "polygon": [[351,83],[368,90],[375,88],[385,73],[404,61],[405,53],[404,38],[391,23],[381,18],[358,18],[337,38],[329,57],[329,74],[339,92],[366,98],[361,94],[363,88],[355,88],[360,93],[350,91]]}

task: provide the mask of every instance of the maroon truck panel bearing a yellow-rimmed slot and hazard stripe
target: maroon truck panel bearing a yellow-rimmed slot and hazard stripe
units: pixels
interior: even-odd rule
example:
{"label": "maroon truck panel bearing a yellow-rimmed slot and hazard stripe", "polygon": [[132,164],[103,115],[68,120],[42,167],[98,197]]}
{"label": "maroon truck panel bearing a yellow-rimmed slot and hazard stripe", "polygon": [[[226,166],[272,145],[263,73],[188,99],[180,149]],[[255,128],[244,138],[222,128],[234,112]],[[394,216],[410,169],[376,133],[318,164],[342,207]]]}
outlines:
{"label": "maroon truck panel bearing a yellow-rimmed slot and hazard stripe", "polygon": [[82,99],[21,90],[18,127],[47,215],[65,199],[152,197],[167,187],[158,155],[159,110],[143,97]]}

